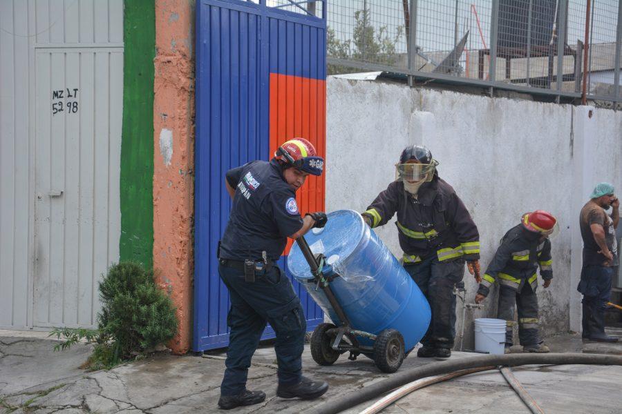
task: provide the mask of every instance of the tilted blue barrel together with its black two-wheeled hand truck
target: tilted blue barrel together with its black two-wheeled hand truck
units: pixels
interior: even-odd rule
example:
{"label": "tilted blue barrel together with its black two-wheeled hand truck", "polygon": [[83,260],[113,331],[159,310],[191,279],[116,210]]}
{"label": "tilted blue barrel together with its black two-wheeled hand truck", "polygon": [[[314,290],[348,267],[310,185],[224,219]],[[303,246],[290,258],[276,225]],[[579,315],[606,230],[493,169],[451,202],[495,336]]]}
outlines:
{"label": "tilted blue barrel together with its black two-wheeled hand truck", "polygon": [[330,365],[349,351],[350,359],[362,353],[381,371],[395,372],[428,329],[424,295],[355,211],[330,213],[323,229],[299,239],[288,268],[334,322],[313,333],[318,364]]}

